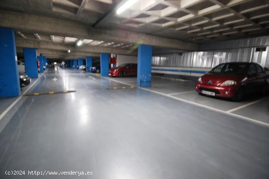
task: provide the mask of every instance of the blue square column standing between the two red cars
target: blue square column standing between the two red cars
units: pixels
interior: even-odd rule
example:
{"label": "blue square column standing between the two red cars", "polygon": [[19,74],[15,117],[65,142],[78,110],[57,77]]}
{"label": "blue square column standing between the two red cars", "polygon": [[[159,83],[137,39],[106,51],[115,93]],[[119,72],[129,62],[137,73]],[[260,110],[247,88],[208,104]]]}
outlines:
{"label": "blue square column standing between the two red cars", "polygon": [[139,45],[137,57],[137,86],[151,86],[152,46]]}

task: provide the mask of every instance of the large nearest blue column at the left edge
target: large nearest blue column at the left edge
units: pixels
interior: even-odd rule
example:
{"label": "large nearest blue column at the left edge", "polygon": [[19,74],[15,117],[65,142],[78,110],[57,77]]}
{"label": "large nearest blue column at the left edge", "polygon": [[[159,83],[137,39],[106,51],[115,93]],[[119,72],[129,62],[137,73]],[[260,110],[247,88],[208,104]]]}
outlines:
{"label": "large nearest blue column at the left edge", "polygon": [[21,94],[14,31],[0,27],[0,97]]}

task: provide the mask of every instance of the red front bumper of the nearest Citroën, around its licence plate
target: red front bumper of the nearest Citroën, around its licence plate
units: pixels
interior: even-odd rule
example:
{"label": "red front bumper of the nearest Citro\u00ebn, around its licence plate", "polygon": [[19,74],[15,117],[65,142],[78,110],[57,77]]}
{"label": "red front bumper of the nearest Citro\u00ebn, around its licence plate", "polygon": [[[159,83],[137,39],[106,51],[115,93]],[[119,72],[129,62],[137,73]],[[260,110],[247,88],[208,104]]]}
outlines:
{"label": "red front bumper of the nearest Citro\u00ebn, around its licence plate", "polygon": [[224,87],[217,87],[217,86],[210,86],[205,85],[199,82],[196,82],[196,91],[199,93],[203,93],[202,91],[209,91],[213,92],[214,95],[212,96],[219,96],[224,98],[232,98],[235,96],[237,87],[236,86],[224,86]]}

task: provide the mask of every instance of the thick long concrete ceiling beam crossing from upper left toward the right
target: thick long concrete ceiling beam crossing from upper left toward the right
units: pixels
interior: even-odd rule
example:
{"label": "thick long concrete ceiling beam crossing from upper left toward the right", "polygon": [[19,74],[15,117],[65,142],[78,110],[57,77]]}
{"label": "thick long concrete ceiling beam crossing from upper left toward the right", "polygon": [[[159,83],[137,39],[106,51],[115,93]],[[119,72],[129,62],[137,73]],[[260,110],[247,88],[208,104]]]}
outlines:
{"label": "thick long concrete ceiling beam crossing from upper left toward the right", "polygon": [[81,22],[52,17],[3,10],[0,11],[0,17],[0,26],[19,31],[126,44],[153,45],[180,50],[198,49],[198,45],[195,43],[125,30],[92,28]]}

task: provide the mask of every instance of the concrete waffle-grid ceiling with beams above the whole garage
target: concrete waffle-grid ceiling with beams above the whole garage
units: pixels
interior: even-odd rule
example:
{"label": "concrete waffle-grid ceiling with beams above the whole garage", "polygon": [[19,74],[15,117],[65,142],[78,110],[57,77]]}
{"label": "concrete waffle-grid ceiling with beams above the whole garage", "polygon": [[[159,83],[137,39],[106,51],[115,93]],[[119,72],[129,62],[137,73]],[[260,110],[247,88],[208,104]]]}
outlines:
{"label": "concrete waffle-grid ceiling with beams above the whole garage", "polygon": [[[1,0],[0,26],[14,28],[18,47],[54,48],[57,58],[135,55],[140,43],[197,50],[196,43],[269,34],[269,0],[136,0],[117,14],[126,1]],[[73,54],[63,55],[68,49]]]}

